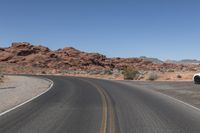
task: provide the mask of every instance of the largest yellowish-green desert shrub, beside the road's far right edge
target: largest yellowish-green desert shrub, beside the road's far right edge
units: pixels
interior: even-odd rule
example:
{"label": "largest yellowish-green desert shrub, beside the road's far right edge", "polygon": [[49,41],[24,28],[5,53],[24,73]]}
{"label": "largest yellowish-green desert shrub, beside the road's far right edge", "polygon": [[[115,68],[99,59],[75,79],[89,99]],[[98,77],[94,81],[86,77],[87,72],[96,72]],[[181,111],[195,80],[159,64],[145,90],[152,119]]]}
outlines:
{"label": "largest yellowish-green desert shrub, beside the road's far right edge", "polygon": [[139,76],[139,71],[134,67],[126,67],[122,74],[124,75],[125,80],[134,80]]}

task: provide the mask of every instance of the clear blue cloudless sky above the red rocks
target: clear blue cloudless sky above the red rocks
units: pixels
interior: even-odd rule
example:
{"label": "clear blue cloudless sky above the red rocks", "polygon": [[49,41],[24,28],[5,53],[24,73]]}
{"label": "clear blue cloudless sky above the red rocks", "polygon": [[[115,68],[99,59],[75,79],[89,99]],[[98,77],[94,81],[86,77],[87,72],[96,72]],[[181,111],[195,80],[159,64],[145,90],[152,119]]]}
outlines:
{"label": "clear blue cloudless sky above the red rocks", "polygon": [[200,0],[0,0],[0,46],[200,59]]}

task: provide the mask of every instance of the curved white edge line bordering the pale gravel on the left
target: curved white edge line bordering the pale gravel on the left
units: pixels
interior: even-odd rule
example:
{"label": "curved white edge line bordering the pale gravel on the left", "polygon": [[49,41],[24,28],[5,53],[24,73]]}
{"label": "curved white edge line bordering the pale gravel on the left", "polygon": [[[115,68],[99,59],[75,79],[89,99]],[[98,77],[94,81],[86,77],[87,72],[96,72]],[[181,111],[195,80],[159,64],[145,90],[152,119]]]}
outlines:
{"label": "curved white edge line bordering the pale gravel on the left", "polygon": [[[34,77],[34,78],[37,78],[37,77]],[[6,110],[6,111],[0,113],[0,116],[3,116],[3,115],[5,115],[5,114],[8,113],[8,112],[11,112],[12,110],[17,109],[17,108],[19,108],[19,107],[25,105],[26,103],[29,103],[30,101],[32,101],[32,100],[38,98],[39,96],[43,95],[44,93],[48,92],[48,91],[53,87],[54,82],[53,82],[52,80],[47,79],[47,78],[41,78],[41,77],[39,77],[39,78],[40,78],[40,79],[43,79],[43,80],[47,80],[47,81],[49,81],[49,82],[51,83],[50,86],[49,86],[49,88],[48,88],[46,91],[44,91],[44,92],[42,92],[42,93],[40,93],[40,94],[38,94],[38,95],[32,97],[31,99],[29,99],[29,100],[27,100],[27,101],[25,101],[25,102],[23,102],[23,103],[21,103],[21,104],[18,104],[18,105],[16,105],[16,106],[14,106],[14,107],[11,108],[11,109],[8,109],[8,110]]]}

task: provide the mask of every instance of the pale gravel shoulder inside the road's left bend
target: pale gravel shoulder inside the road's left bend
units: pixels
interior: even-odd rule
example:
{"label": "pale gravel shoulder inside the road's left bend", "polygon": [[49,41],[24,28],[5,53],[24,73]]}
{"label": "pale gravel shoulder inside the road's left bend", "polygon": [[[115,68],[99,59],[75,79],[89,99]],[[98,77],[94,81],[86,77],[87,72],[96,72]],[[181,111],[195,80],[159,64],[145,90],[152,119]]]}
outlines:
{"label": "pale gravel shoulder inside the road's left bend", "polygon": [[5,76],[0,83],[0,113],[46,91],[47,80],[26,76]]}

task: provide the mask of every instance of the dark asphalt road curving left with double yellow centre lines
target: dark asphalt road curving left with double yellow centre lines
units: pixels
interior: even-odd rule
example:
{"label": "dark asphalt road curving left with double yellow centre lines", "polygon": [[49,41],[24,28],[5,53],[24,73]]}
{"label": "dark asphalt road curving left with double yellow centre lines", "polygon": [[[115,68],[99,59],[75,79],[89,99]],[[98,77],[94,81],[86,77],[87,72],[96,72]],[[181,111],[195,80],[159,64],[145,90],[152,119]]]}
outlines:
{"label": "dark asphalt road curving left with double yellow centre lines", "polygon": [[148,88],[46,78],[54,86],[0,116],[0,133],[200,133],[200,111]]}

